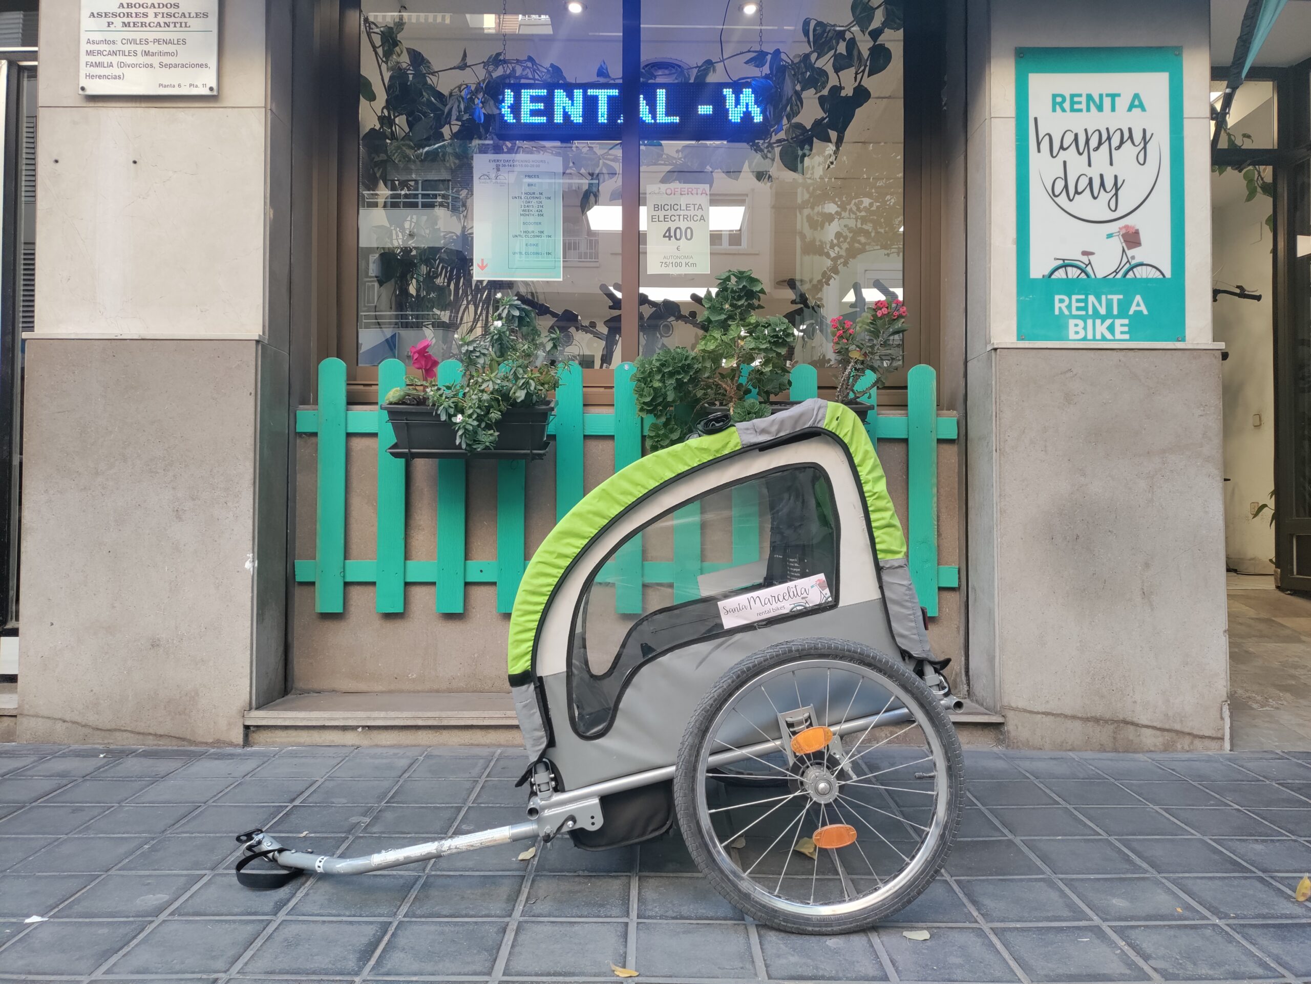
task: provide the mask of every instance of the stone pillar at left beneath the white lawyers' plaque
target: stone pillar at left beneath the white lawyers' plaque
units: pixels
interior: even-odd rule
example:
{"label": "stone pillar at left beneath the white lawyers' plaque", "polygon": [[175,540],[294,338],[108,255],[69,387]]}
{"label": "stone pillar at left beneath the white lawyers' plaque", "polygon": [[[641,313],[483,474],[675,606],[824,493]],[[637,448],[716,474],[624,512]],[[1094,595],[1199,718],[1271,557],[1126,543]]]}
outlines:
{"label": "stone pillar at left beneath the white lawyers' plaque", "polygon": [[77,90],[41,9],[24,742],[228,743],[282,694],[290,0],[227,0],[212,97]]}

